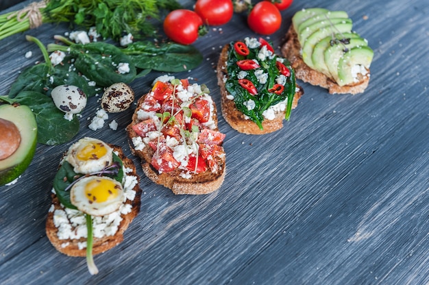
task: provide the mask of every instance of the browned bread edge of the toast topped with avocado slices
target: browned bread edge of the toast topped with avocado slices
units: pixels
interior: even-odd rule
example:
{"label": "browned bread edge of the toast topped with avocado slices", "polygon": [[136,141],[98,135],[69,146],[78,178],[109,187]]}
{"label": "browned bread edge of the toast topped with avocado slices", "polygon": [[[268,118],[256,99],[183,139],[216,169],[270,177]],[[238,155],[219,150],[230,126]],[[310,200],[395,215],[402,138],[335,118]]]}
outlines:
{"label": "browned bread edge of the toast topped with avocado slices", "polygon": [[[286,34],[286,42],[282,45],[282,55],[289,59],[293,69],[295,69],[295,77],[304,82],[308,82],[315,86],[321,86],[328,89],[330,94],[358,94],[365,91],[369,84],[369,76],[358,75],[359,82],[355,84],[339,86],[334,79],[324,75],[323,73],[310,68],[304,63],[301,56],[301,45],[299,44],[297,33],[293,25],[289,27]],[[368,70],[369,74],[369,70]]]}

